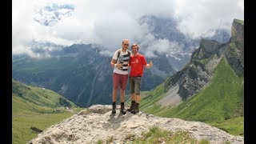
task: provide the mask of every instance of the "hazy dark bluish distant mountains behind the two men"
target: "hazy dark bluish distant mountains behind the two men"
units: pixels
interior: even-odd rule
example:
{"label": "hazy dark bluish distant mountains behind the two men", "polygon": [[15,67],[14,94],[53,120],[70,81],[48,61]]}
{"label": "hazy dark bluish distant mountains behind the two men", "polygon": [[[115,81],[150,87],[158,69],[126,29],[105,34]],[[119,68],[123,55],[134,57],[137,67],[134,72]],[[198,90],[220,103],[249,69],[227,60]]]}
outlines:
{"label": "hazy dark bluish distant mountains behind the two men", "polygon": [[[50,58],[19,56],[13,58],[13,78],[32,86],[54,90],[78,106],[110,103],[113,73],[111,58],[99,52],[100,49],[91,45],[73,45],[48,51],[52,55]],[[152,60],[154,72],[145,71],[143,90],[152,89],[163,82],[164,76],[175,73],[166,56]]]}

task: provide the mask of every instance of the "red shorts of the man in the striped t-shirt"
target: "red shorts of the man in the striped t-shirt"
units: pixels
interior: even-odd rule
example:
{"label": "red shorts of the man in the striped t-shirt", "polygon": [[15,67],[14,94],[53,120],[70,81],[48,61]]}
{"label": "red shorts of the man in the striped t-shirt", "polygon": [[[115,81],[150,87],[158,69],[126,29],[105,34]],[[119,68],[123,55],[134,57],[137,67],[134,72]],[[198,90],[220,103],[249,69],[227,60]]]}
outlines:
{"label": "red shorts of the man in the striped t-shirt", "polygon": [[116,74],[116,73],[113,73],[113,86],[114,86],[114,89],[118,89],[118,87],[120,86],[120,88],[122,90],[126,90],[127,81],[128,81],[128,74]]}

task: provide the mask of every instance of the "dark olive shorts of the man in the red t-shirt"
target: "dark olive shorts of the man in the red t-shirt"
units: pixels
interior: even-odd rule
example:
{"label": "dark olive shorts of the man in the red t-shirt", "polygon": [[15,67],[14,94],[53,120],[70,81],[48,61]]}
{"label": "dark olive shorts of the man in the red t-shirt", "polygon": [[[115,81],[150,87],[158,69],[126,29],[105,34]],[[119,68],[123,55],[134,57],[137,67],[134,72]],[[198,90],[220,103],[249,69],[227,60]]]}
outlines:
{"label": "dark olive shorts of the man in the red t-shirt", "polygon": [[141,94],[142,77],[130,77],[130,94]]}

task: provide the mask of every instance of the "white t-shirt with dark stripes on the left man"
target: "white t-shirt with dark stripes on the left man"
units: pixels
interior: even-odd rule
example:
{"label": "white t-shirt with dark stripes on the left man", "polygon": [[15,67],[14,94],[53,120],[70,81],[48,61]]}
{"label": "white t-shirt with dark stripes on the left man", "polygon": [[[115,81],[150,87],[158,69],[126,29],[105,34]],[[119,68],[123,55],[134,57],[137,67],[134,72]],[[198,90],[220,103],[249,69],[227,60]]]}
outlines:
{"label": "white t-shirt with dark stripes on the left man", "polygon": [[[131,54],[131,53],[130,53]],[[121,68],[114,68],[114,73],[116,74],[128,74],[128,63],[129,63],[129,59],[130,56],[128,54],[128,50],[126,50],[126,52],[122,52],[122,50],[120,50],[120,55],[118,57],[118,50],[116,50],[114,52],[114,56],[113,59],[117,60],[117,64],[122,63],[122,67]]]}

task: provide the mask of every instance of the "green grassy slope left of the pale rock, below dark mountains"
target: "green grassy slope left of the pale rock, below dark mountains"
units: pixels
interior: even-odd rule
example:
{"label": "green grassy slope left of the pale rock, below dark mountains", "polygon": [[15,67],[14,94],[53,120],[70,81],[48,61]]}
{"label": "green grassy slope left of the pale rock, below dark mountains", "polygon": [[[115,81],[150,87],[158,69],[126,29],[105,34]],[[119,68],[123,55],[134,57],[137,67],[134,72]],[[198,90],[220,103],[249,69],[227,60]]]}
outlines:
{"label": "green grassy slope left of the pale rock, below dark mountains", "polygon": [[29,142],[39,131],[81,110],[68,100],[66,102],[72,108],[65,110],[65,105],[60,104],[60,98],[66,100],[51,90],[26,86],[13,80],[12,143]]}

